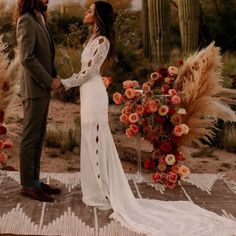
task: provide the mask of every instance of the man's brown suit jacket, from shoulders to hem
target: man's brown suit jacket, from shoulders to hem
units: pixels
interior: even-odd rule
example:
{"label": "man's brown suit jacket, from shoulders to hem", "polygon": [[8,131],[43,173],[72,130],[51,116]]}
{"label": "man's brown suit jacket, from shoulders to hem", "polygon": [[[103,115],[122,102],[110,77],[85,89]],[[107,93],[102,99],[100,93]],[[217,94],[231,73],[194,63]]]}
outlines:
{"label": "man's brown suit jacket, from shoulders to hem", "polygon": [[29,99],[49,96],[56,71],[55,46],[48,27],[26,13],[17,22],[16,37],[22,65],[21,96]]}

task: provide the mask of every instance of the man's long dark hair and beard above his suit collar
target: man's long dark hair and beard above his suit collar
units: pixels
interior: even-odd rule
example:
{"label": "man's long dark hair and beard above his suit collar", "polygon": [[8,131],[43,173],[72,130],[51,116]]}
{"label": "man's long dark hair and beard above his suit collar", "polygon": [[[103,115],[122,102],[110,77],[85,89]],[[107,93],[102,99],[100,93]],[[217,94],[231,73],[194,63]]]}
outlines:
{"label": "man's long dark hair and beard above his suit collar", "polygon": [[15,27],[16,27],[19,17],[21,17],[25,13],[30,13],[35,18],[37,18],[35,11],[41,12],[41,10],[42,9],[41,9],[41,5],[40,5],[40,0],[18,0],[16,7],[15,7],[15,13],[13,16],[13,21],[14,21]]}

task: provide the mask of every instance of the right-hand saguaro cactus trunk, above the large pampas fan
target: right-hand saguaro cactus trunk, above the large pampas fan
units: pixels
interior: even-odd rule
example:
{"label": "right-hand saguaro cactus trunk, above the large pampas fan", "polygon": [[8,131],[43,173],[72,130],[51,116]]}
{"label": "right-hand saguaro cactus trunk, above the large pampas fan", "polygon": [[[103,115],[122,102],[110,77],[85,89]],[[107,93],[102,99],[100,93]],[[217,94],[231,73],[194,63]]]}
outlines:
{"label": "right-hand saguaro cactus trunk, above the large pampas fan", "polygon": [[182,51],[185,55],[198,48],[199,0],[178,0]]}

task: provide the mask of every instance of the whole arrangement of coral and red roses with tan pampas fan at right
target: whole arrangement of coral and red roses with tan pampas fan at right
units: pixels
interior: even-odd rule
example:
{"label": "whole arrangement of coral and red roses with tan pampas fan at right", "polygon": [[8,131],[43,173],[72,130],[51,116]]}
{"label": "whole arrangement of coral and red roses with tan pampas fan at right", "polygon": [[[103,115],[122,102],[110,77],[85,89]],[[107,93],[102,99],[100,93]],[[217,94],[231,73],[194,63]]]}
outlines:
{"label": "whole arrangement of coral and red roses with tan pampas fan at right", "polygon": [[151,142],[152,157],[144,166],[153,170],[155,182],[168,188],[190,173],[180,164],[182,145],[210,143],[217,119],[236,122],[230,107],[236,91],[223,87],[220,48],[211,43],[180,65],[158,69],[142,86],[125,81],[124,94],[113,94],[114,102],[123,106],[120,121],[127,137],[141,135]]}

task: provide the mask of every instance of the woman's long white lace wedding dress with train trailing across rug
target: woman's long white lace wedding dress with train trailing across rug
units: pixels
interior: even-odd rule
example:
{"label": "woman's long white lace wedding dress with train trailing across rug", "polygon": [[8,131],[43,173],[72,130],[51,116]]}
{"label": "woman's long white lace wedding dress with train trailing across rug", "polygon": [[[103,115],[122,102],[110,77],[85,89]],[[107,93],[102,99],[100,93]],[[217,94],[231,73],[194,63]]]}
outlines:
{"label": "woman's long white lace wedding dress with train trailing across rug", "polygon": [[136,199],[129,187],[108,124],[108,96],[100,75],[109,41],[90,40],[79,74],[62,80],[66,89],[80,86],[81,187],[83,202],[112,208],[111,218],[130,230],[155,236],[231,236],[236,221],[189,201]]}

